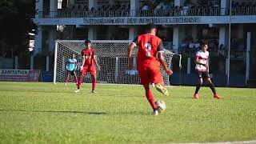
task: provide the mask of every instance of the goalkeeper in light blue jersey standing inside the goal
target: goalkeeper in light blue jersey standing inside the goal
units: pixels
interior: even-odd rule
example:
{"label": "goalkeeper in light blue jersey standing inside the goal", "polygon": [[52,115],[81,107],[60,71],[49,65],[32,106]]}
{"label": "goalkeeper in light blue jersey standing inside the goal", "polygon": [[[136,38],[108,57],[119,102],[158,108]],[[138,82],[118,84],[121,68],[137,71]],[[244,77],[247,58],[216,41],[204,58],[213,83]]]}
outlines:
{"label": "goalkeeper in light blue jersey standing inside the goal", "polygon": [[78,78],[77,75],[75,74],[75,70],[77,70],[77,59],[74,58],[74,54],[72,54],[72,58],[68,59],[66,61],[66,79],[65,79],[65,85],[67,83],[67,80],[69,79],[69,75],[74,76],[74,81],[76,84],[78,84]]}

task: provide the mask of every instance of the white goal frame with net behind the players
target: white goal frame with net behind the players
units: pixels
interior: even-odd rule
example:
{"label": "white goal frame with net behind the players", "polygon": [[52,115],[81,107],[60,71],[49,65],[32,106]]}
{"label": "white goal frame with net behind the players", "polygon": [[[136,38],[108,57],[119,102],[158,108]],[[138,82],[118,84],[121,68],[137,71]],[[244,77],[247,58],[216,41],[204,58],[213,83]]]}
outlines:
{"label": "white goal frame with net behind the players", "polygon": [[[137,52],[133,50],[133,70],[128,70],[127,49],[131,41],[127,40],[92,40],[91,46],[95,49],[95,55],[101,70],[97,70],[97,83],[110,84],[140,84],[137,71]],[[57,40],[54,54],[54,83],[64,82],[66,76],[66,61],[75,54],[78,60],[78,68],[81,66],[81,50],[85,48],[84,41],[81,40]],[[174,53],[164,50],[164,58],[167,66],[171,66]],[[181,56],[181,55],[180,55]],[[180,57],[181,61],[181,57]],[[181,68],[181,64],[180,68]],[[161,68],[165,84],[170,85],[169,75]],[[79,70],[76,71],[79,78]],[[72,80],[71,80],[72,79]],[[74,82],[74,78],[70,78]],[[87,74],[82,82],[90,83],[90,74]]]}

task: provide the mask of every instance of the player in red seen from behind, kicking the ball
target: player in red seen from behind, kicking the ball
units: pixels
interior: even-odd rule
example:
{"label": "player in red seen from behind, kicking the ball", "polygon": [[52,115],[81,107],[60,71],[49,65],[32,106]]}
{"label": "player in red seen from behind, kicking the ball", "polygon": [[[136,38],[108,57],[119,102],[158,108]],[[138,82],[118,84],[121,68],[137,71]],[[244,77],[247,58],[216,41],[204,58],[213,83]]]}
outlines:
{"label": "player in red seen from behind, kicking the ball", "polygon": [[154,96],[150,90],[150,84],[154,83],[157,90],[162,94],[169,95],[168,90],[164,87],[160,64],[166,71],[166,74],[173,74],[173,71],[166,66],[166,61],[163,58],[162,40],[155,34],[156,26],[153,23],[146,25],[147,34],[141,34],[135,38],[128,48],[128,66],[132,69],[132,50],[138,46],[137,66],[138,74],[141,78],[141,84],[144,86],[146,98],[153,108],[153,115],[158,115],[158,108],[154,102]]}

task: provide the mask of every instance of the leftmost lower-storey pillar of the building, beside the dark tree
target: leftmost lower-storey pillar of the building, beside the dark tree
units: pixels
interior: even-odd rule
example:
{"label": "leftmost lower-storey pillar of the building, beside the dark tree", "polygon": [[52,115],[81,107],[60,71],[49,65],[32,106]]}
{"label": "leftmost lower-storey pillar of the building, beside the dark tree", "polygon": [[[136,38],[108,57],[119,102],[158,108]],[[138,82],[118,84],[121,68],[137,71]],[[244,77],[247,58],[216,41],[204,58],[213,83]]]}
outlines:
{"label": "leftmost lower-storey pillar of the building, beside the dark tree", "polygon": [[38,26],[38,34],[34,36],[34,54],[42,51],[42,26]]}

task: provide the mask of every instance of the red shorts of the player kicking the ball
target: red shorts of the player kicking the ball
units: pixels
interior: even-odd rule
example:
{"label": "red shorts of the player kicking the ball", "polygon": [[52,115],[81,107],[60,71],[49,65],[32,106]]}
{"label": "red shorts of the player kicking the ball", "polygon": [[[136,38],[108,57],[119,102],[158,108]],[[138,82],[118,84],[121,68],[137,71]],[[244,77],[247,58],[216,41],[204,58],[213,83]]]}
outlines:
{"label": "red shorts of the player kicking the ball", "polygon": [[148,85],[150,83],[163,83],[161,70],[152,70],[150,68],[144,68],[138,70],[138,75],[141,78],[142,85]]}

